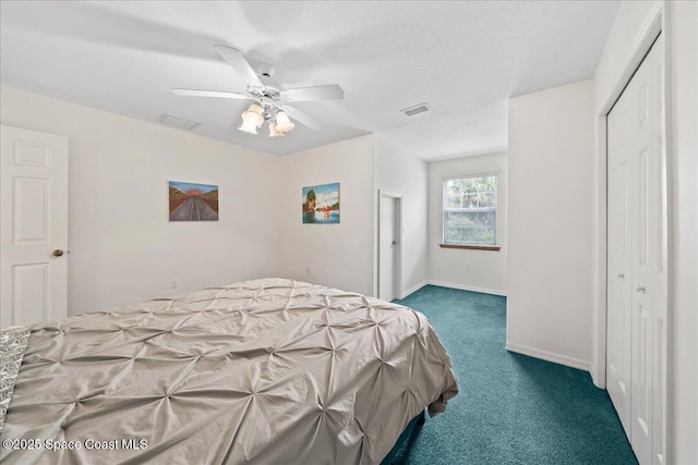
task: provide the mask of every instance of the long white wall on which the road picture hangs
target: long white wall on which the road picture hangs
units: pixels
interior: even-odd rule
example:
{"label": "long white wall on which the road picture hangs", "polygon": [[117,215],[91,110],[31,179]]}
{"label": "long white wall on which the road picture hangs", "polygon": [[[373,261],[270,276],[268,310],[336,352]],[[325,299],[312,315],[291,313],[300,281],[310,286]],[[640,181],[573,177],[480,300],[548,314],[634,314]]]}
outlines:
{"label": "long white wall on which the road picture hangs", "polygon": [[[69,315],[275,274],[278,158],[1,87],[2,124],[69,137]],[[169,180],[217,184],[220,220],[169,222]],[[170,289],[170,279],[179,289]]]}

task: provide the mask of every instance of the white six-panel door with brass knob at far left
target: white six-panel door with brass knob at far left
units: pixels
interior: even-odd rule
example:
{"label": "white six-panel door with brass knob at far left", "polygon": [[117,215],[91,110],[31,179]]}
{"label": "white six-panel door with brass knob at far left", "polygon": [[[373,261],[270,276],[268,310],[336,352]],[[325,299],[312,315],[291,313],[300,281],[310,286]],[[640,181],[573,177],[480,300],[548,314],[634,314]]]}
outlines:
{"label": "white six-panel door with brass knob at far left", "polygon": [[0,127],[2,328],[68,314],[68,138]]}

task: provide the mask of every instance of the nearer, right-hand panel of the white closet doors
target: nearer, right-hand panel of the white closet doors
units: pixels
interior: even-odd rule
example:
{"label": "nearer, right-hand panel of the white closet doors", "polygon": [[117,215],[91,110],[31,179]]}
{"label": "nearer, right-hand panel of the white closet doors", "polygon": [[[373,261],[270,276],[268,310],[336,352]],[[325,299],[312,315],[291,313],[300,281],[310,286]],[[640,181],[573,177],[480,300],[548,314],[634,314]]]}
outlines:
{"label": "nearer, right-hand panel of the white closet doors", "polygon": [[642,464],[664,463],[666,358],[665,154],[663,41],[660,37],[633,78],[638,101],[637,231],[633,250],[633,448]]}

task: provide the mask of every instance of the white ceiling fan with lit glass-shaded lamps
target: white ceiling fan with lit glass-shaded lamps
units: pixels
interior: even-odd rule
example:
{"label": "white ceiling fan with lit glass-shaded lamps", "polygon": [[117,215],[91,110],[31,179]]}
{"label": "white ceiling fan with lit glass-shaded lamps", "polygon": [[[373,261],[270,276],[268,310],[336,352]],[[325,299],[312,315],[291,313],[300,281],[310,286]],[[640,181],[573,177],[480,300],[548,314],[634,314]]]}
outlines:
{"label": "white ceiling fan with lit glass-shaded lamps", "polygon": [[171,90],[177,95],[192,97],[254,100],[254,103],[242,113],[242,125],[238,127],[240,131],[256,134],[257,127],[267,123],[269,137],[284,137],[284,133],[291,131],[296,126],[290,121],[289,115],[304,126],[317,131],[320,130],[320,124],[315,120],[299,109],[287,105],[287,102],[336,100],[342,99],[345,96],[345,91],[337,84],[281,89],[272,79],[275,69],[270,64],[262,63],[255,72],[240,50],[224,45],[217,45],[214,48],[245,79],[248,83],[246,93],[183,88],[173,88]]}

